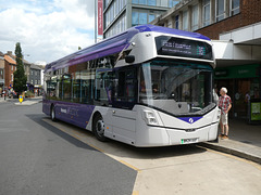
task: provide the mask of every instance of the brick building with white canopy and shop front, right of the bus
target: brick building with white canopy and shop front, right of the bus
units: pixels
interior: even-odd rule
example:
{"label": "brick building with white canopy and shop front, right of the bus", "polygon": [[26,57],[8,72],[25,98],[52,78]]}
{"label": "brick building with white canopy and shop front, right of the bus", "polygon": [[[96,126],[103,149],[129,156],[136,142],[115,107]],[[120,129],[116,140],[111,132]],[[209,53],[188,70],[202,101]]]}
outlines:
{"label": "brick building with white canopy and shop front, right of the bus", "polygon": [[261,102],[260,10],[261,0],[183,0],[151,22],[212,39],[215,86],[228,89],[233,117],[248,117],[247,94]]}

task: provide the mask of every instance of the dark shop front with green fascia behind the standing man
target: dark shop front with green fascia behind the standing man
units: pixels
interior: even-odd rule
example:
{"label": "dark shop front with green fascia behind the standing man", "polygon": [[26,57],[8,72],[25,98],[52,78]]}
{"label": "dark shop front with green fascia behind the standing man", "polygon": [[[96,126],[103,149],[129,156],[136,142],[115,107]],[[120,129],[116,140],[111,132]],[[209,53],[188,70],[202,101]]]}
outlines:
{"label": "dark shop front with green fascia behind the standing man", "polygon": [[[251,119],[251,102],[261,102],[261,65],[220,67],[215,69],[215,87],[227,88],[232,98],[232,118]],[[257,109],[256,109],[257,112]]]}

